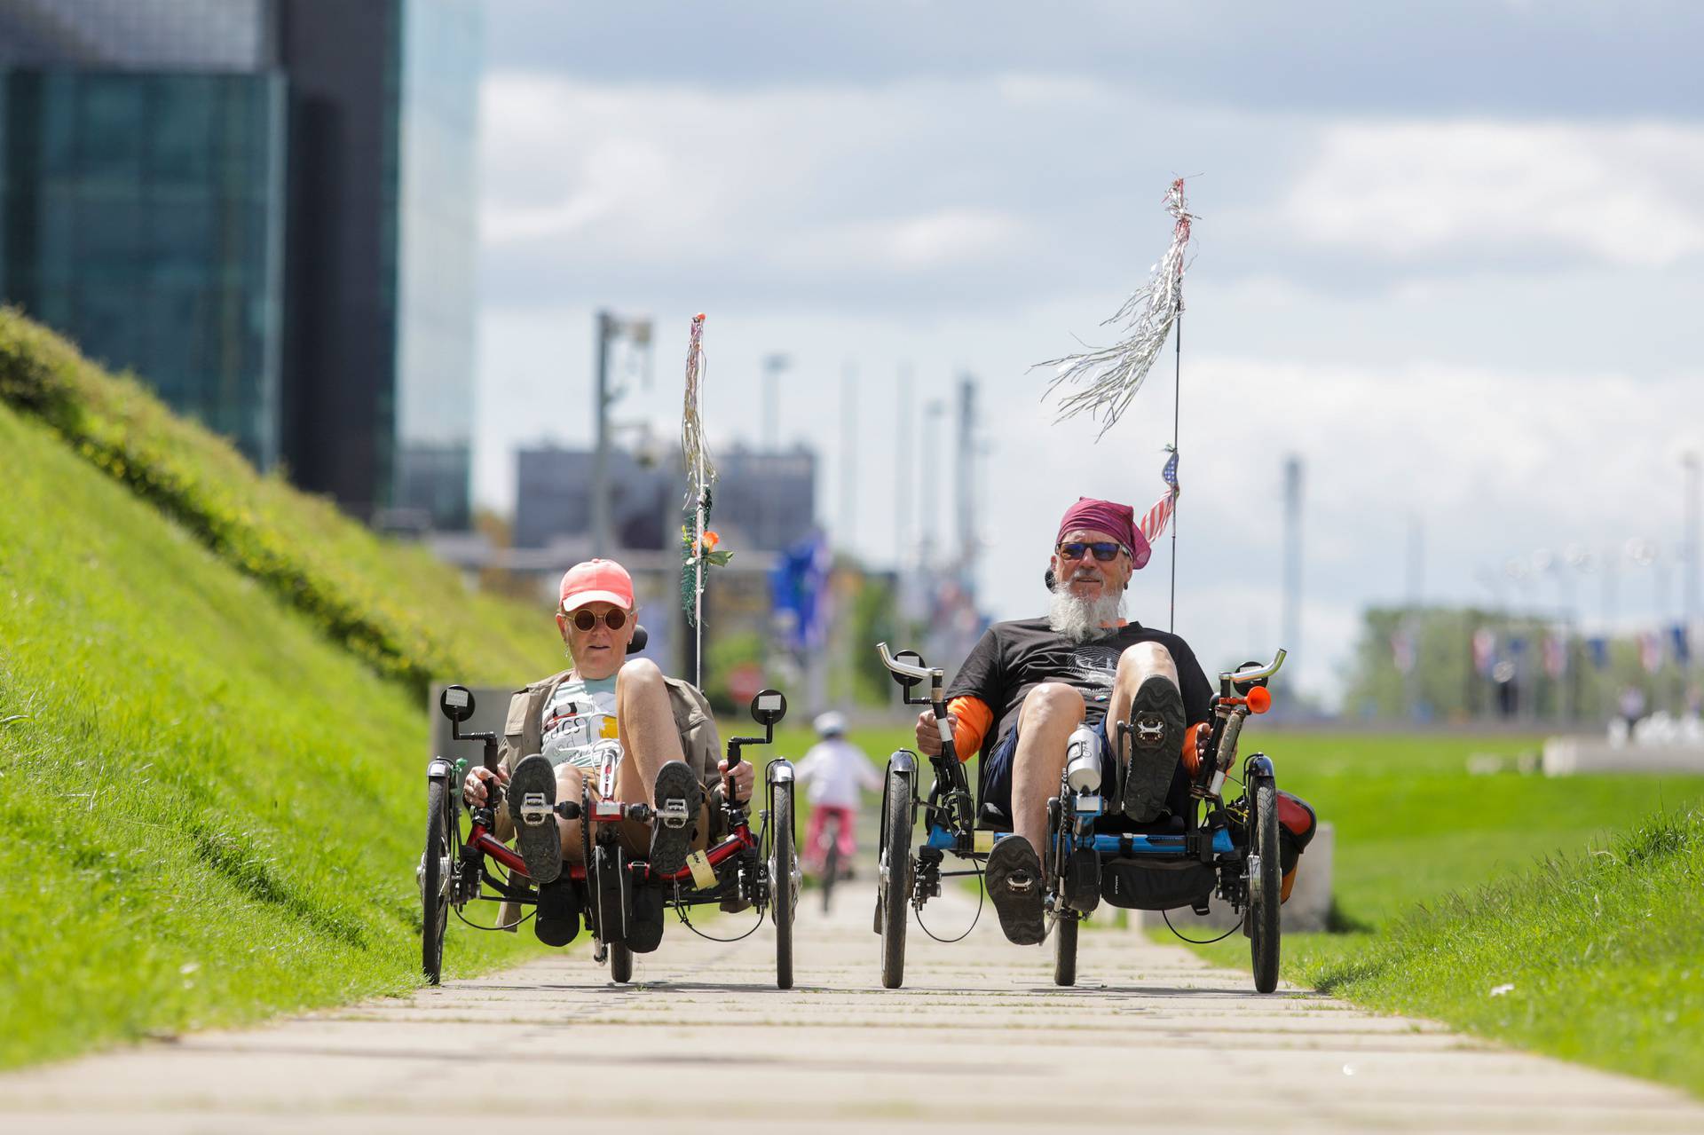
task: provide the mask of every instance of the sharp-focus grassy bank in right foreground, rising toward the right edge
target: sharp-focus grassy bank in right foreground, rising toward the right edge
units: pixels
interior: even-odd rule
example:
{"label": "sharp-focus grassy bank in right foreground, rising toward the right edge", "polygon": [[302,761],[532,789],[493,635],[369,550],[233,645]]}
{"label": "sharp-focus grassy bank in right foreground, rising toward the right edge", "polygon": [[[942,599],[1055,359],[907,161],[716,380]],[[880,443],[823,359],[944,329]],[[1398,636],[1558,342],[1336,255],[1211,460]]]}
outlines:
{"label": "sharp-focus grassy bank in right foreground, rising toward the right edge", "polygon": [[1704,811],[1448,895],[1300,977],[1704,1094]]}

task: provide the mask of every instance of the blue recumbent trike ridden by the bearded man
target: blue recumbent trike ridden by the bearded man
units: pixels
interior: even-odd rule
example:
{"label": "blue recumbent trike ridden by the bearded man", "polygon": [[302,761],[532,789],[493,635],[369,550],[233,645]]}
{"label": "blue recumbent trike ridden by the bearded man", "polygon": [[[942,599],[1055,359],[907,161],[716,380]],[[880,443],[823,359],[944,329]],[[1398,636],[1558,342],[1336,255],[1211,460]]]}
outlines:
{"label": "blue recumbent trike ridden by the bearded man", "polygon": [[[992,806],[978,811],[970,779],[953,743],[944,673],[929,668],[915,651],[888,653],[883,665],[901,687],[907,706],[930,706],[941,728],[941,753],[930,757],[934,784],[918,798],[917,753],[901,748],[888,760],[883,786],[881,842],[876,879],[876,932],[881,936],[881,983],[898,988],[905,980],[907,907],[922,917],[924,903],[941,895],[941,879],[980,876],[993,844],[1010,833],[1007,816]],[[1077,927],[1102,900],[1135,910],[1191,907],[1206,913],[1218,896],[1242,915],[1254,959],[1254,988],[1269,994],[1278,985],[1278,787],[1264,753],[1242,762],[1242,796],[1227,803],[1225,777],[1237,758],[1237,740],[1251,712],[1271,706],[1266,682],[1283,666],[1285,651],[1271,665],[1246,663],[1218,675],[1212,735],[1191,782],[1191,808],[1184,816],[1145,825],[1140,832],[1097,830],[1106,815],[1101,792],[1099,752],[1077,750],[1072,738],[1060,794],[1048,799],[1048,847],[1043,849],[1045,910],[1053,924],[1053,980],[1077,982]],[[929,682],[927,695],[912,690]],[[1120,769],[1126,743],[1143,731],[1160,729],[1133,711],[1131,721],[1114,723],[1113,745]],[[1089,738],[1094,745],[1097,740]],[[1208,758],[1208,755],[1212,758]],[[1123,786],[1113,789],[1121,799]],[[978,798],[982,796],[978,786]],[[912,850],[917,813],[924,813],[924,842]],[[968,861],[968,869],[946,869],[946,857]]]}

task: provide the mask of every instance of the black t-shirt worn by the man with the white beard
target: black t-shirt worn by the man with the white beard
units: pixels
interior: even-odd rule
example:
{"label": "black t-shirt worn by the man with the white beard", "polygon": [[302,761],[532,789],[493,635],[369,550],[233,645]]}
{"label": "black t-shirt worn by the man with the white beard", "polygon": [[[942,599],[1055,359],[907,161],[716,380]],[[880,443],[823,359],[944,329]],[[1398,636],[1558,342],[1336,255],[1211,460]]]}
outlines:
{"label": "black t-shirt worn by the man with the white beard", "polygon": [[1191,724],[1206,721],[1212,712],[1213,687],[1208,685],[1195,651],[1176,634],[1150,631],[1135,622],[1089,642],[1072,642],[1055,634],[1046,619],[997,622],[983,632],[982,641],[959,666],[958,677],[947,687],[947,699],[978,697],[995,712],[995,726],[982,743],[983,753],[992,752],[1007,729],[1017,724],[1024,695],[1043,682],[1067,682],[1077,687],[1082,694],[1084,721],[1092,726],[1106,717],[1118,656],[1137,642],[1159,642],[1171,651],[1177,665],[1184,719]]}

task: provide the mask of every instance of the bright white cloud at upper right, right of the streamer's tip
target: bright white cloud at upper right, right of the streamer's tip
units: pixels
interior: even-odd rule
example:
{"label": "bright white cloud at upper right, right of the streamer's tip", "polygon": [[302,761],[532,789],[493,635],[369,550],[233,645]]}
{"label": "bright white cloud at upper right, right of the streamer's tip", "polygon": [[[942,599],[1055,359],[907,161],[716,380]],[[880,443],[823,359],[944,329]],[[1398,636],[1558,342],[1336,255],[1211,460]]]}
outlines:
{"label": "bright white cloud at upper right, right of the streamer's tip", "polygon": [[1278,211],[1307,242],[1392,259],[1704,252],[1704,128],[1385,121],[1326,126]]}

